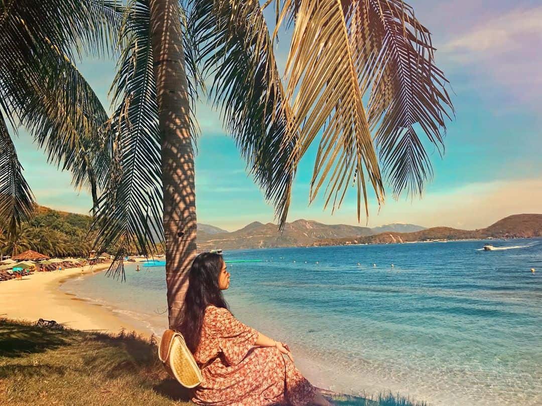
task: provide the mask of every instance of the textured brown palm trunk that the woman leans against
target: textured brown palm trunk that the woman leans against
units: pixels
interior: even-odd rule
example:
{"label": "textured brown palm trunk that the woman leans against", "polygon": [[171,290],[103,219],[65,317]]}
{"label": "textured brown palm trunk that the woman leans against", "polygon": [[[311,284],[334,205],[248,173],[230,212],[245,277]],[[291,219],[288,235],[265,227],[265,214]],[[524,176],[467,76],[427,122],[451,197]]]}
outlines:
{"label": "textured brown palm trunk that the woman leans against", "polygon": [[175,327],[196,256],[196,194],[188,85],[178,0],[150,0],[158,119],[162,140],[169,325]]}

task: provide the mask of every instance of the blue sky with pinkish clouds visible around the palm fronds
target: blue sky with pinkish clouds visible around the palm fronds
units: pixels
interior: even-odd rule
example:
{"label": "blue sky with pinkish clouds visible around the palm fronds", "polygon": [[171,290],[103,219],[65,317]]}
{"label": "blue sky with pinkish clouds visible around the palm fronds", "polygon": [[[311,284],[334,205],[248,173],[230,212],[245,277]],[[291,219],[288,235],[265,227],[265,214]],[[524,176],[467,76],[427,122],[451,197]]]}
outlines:
{"label": "blue sky with pinkish clouds visible around the palm fronds", "polygon": [[[422,199],[370,203],[369,226],[413,222],[423,226],[487,226],[514,213],[540,212],[542,201],[542,5],[539,0],[411,0],[433,32],[437,64],[451,82],[456,118],[448,123],[446,152],[435,151],[434,179]],[[279,45],[279,54],[288,45]],[[109,106],[114,63],[85,60],[83,75]],[[247,176],[233,141],[215,112],[198,106],[202,136],[196,157],[198,221],[235,230],[251,221],[273,221],[273,207]],[[24,174],[41,205],[87,213],[87,191],[74,191],[70,175],[46,162],[30,137],[15,140]],[[356,224],[354,189],[339,209],[308,206],[311,156],[301,162],[289,220]],[[365,218],[362,218],[365,225]]]}

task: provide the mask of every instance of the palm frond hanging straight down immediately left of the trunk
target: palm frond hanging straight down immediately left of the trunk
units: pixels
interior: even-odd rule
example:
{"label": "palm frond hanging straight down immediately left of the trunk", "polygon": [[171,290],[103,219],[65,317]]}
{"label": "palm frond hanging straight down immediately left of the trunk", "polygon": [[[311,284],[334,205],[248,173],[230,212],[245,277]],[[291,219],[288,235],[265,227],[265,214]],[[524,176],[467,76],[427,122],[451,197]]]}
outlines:
{"label": "palm frond hanging straight down immediately left of the trunk", "polygon": [[124,279],[122,258],[128,247],[150,256],[163,240],[162,181],[156,80],[147,0],[127,4],[120,30],[118,71],[111,89],[120,102],[108,125],[112,156],[108,181],[99,199],[94,228],[96,248],[116,247],[109,274]]}

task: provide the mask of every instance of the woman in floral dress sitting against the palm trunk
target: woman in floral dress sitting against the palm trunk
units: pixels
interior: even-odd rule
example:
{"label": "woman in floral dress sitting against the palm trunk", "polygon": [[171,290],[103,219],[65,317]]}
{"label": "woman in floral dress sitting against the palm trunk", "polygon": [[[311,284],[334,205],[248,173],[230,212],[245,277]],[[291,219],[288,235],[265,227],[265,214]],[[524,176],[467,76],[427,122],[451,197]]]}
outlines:
{"label": "woman in floral dress sitting against the palm trunk", "polygon": [[192,390],[192,402],[331,406],[294,366],[286,343],[264,336],[230,313],[222,295],[230,286],[226,268],[222,256],[204,252],[189,271],[178,330],[203,376]]}

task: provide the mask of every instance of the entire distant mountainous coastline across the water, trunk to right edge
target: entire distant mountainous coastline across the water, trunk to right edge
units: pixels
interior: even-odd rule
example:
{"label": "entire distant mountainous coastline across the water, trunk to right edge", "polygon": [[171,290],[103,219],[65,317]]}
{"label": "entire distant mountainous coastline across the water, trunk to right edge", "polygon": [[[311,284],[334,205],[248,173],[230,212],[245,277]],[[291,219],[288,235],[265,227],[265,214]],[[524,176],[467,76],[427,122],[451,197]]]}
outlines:
{"label": "entire distant mountainous coastline across the water, trunk to right edge", "polygon": [[[369,228],[344,224],[327,225],[295,220],[281,234],[273,223],[252,222],[234,232],[206,232],[198,225],[200,249],[273,248],[351,244],[393,244],[414,241],[542,237],[542,214],[515,214],[479,230],[451,227],[424,228],[414,224],[389,224]],[[216,227],[215,227],[216,228]],[[205,230],[205,228],[203,228]]]}

